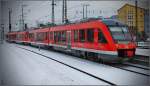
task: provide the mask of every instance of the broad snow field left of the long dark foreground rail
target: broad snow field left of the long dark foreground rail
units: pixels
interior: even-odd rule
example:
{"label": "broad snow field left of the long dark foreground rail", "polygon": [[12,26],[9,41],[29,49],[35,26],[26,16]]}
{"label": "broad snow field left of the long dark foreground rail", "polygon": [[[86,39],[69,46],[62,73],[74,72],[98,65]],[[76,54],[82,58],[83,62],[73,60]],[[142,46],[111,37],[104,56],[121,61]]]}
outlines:
{"label": "broad snow field left of the long dark foreground rail", "polygon": [[0,45],[3,84],[107,85],[106,83],[23,49]]}

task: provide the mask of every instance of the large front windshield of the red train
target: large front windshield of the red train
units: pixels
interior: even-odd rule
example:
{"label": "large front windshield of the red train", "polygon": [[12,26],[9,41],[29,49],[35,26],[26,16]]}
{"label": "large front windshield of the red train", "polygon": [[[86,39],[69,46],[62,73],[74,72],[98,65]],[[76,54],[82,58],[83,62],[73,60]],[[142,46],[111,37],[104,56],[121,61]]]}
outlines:
{"label": "large front windshield of the red train", "polygon": [[131,41],[132,37],[127,27],[109,27],[115,41]]}

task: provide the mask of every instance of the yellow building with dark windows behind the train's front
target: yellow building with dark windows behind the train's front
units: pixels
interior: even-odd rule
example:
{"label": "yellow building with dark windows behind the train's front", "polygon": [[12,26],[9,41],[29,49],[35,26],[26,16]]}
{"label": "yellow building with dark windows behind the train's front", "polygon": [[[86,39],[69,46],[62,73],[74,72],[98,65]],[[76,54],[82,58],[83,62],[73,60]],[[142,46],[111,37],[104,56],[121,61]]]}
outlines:
{"label": "yellow building with dark windows behind the train's front", "polygon": [[[144,11],[145,9],[137,7],[137,28],[136,28],[136,6],[125,4],[118,9],[118,20],[129,26],[130,31],[134,35],[140,35],[144,33]],[[137,34],[136,34],[137,32]]]}

